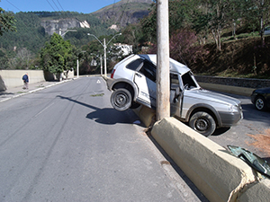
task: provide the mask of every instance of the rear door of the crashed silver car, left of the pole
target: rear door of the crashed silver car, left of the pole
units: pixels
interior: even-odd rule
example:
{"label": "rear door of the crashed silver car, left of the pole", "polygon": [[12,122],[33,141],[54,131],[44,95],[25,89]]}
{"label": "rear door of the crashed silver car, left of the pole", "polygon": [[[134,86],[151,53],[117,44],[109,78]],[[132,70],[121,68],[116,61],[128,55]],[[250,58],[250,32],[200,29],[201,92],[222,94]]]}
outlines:
{"label": "rear door of the crashed silver car, left of the pole", "polygon": [[137,101],[148,107],[156,107],[156,72],[156,66],[145,60],[134,74],[134,83],[139,89]]}

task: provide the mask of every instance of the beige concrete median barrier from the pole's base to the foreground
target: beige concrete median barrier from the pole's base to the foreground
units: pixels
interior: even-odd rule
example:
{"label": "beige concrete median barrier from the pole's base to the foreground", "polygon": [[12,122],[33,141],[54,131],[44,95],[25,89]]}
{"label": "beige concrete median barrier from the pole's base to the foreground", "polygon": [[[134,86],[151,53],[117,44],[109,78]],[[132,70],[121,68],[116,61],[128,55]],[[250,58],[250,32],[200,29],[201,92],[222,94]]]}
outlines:
{"label": "beige concrete median barrier from the pole's base to the foreground", "polygon": [[210,201],[269,200],[270,180],[177,119],[158,121],[151,134]]}

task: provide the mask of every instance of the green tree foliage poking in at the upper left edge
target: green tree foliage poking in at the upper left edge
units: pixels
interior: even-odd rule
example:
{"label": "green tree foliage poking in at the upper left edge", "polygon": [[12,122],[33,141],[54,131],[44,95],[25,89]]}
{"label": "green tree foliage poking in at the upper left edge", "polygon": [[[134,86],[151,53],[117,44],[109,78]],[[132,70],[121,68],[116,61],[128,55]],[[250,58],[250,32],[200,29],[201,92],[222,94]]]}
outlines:
{"label": "green tree foliage poking in at the upper left edge", "polygon": [[16,31],[15,22],[14,16],[0,7],[0,35],[2,36],[4,31]]}

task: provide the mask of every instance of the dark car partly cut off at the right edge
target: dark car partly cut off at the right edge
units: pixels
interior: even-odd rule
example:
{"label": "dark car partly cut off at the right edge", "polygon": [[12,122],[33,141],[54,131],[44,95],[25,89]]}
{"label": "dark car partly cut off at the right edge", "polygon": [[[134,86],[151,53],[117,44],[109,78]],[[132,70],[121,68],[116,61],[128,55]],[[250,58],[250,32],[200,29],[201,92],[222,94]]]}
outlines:
{"label": "dark car partly cut off at the right edge", "polygon": [[266,110],[270,108],[270,87],[259,88],[252,92],[251,101],[257,110]]}

